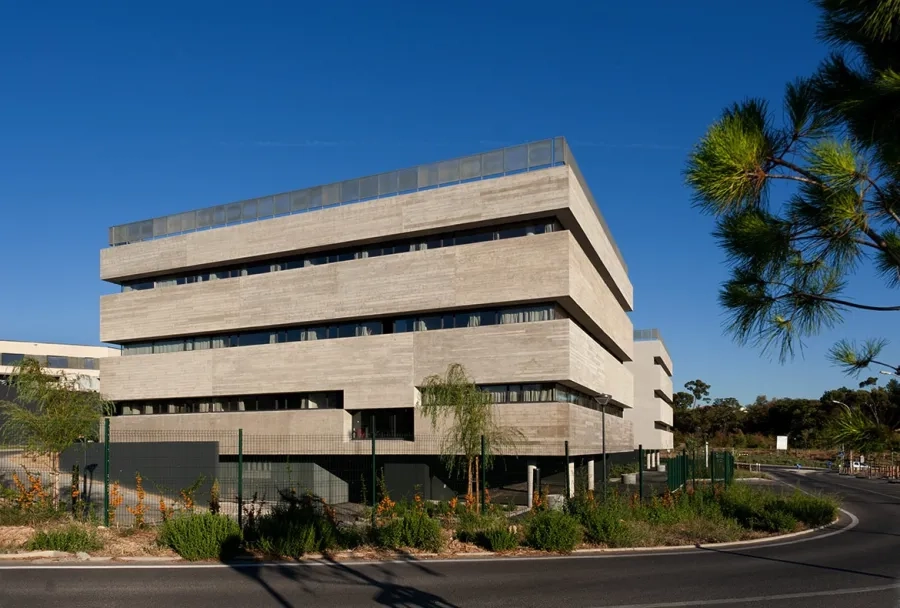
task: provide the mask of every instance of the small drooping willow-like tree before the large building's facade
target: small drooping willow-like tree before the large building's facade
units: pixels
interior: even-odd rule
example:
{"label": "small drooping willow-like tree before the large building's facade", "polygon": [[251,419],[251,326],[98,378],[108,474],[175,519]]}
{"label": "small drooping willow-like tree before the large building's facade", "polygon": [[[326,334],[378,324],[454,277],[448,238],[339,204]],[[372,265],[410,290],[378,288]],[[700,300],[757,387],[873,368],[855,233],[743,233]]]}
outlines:
{"label": "small drooping willow-like tree before the large building's facade", "polygon": [[484,437],[485,468],[493,466],[494,457],[507,450],[515,450],[523,437],[515,427],[500,426],[494,420],[494,401],[490,394],[473,383],[466,369],[453,363],[444,376],[425,379],[422,386],[422,413],[437,429],[447,421],[441,439],[441,457],[451,474],[465,463],[467,494],[477,492],[477,462]]}

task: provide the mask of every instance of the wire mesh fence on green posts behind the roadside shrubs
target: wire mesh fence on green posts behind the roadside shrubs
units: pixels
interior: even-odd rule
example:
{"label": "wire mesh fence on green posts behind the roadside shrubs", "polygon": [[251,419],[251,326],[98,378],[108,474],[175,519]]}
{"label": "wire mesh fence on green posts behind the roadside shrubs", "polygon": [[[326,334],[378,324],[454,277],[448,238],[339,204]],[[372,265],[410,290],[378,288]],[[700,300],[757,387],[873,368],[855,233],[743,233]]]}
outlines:
{"label": "wire mesh fence on green posts behind the roadside shrubs", "polygon": [[[56,466],[46,456],[7,445],[0,449],[0,485],[16,495],[36,483],[46,495],[58,494],[73,512],[121,527],[158,524],[186,508],[244,523],[268,512],[285,494],[307,493],[350,523],[370,516],[369,507],[384,492],[398,501],[463,500],[468,492],[466,463],[448,469],[438,436],[348,441],[104,426],[101,438],[65,450]],[[536,497],[562,500],[591,491],[645,498],[666,489],[666,474],[650,470],[655,452],[611,453],[604,462],[587,446],[561,442],[557,447],[555,456],[498,456],[490,468],[479,456],[476,500],[515,511],[532,506]]]}

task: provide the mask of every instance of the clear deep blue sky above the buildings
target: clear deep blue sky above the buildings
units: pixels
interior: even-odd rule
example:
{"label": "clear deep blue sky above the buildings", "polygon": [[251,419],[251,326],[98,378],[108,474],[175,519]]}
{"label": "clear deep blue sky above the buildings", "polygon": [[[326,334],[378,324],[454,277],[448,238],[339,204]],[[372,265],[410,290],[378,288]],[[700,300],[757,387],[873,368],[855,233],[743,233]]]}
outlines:
{"label": "clear deep blue sky above the buildings", "polygon": [[[805,2],[240,4],[0,5],[0,338],[97,343],[111,225],[555,135],[676,387],[818,397],[847,382],[835,339],[885,335],[887,313],[853,314],[783,367],[734,345],[683,185],[725,105],[777,103],[824,55]],[[854,286],[885,303],[867,269]]]}

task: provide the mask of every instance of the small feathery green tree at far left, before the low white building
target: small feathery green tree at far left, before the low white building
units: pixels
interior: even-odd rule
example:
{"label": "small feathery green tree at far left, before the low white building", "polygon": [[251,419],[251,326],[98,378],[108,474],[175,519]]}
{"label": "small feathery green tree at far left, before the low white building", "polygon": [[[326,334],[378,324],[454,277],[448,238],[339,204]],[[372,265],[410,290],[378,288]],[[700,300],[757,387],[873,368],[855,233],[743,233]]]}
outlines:
{"label": "small feathery green tree at far left, before the low white building", "polygon": [[22,445],[26,453],[49,457],[54,504],[59,503],[60,453],[95,434],[109,409],[99,393],[80,390],[80,381],[48,373],[35,359],[25,358],[9,378],[19,403],[0,401],[3,439]]}

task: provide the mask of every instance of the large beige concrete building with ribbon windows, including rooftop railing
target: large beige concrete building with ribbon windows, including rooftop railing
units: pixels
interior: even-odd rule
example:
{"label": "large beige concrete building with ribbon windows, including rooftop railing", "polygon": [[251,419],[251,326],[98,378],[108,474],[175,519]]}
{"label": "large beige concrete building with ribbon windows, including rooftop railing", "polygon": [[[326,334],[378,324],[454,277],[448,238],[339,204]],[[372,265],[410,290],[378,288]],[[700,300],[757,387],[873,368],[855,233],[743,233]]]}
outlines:
{"label": "large beige concrete building with ribbon windows, including rooftop railing", "polygon": [[116,226],[110,245],[113,429],[364,454],[374,416],[421,454],[419,388],[460,363],[520,454],[599,453],[600,393],[608,450],[634,444],[632,286],[563,138]]}

